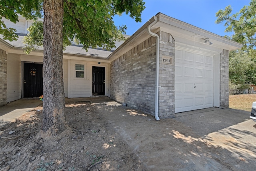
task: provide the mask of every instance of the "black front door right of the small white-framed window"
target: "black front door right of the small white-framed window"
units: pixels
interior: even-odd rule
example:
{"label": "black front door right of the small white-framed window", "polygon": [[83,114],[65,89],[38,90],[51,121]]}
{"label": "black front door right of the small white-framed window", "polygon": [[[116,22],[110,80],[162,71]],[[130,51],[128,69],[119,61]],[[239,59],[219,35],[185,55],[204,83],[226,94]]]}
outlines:
{"label": "black front door right of the small white-framed window", "polygon": [[92,67],[92,95],[105,95],[104,67]]}

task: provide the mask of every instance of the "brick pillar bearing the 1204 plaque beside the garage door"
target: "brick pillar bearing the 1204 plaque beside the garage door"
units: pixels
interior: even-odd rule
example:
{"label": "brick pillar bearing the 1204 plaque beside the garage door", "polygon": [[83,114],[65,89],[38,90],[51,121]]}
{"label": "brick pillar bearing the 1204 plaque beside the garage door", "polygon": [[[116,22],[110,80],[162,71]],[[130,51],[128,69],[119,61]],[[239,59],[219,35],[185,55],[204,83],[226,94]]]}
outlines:
{"label": "brick pillar bearing the 1204 plaque beside the garage door", "polygon": [[[160,63],[159,63],[159,117],[174,117],[174,45],[171,34],[159,32]],[[172,64],[163,64],[162,57],[170,57]]]}

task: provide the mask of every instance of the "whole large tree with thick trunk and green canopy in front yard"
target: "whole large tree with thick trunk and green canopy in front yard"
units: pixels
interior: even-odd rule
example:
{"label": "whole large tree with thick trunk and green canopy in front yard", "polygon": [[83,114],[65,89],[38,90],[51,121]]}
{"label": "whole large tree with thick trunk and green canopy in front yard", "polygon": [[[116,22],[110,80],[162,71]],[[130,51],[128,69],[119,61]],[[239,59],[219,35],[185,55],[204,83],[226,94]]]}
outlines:
{"label": "whole large tree with thick trunk and green canopy in front yard", "polygon": [[[42,22],[32,25],[31,39],[28,38],[30,43],[41,42],[43,38],[44,133],[54,136],[66,129],[63,42],[68,43],[75,38],[86,50],[90,46],[113,48],[114,41],[122,37],[121,32],[125,28],[118,29],[113,16],[125,12],[140,22],[144,4],[142,0],[0,0],[0,34],[6,40],[16,40],[17,35],[16,30],[5,26],[2,17],[16,23],[18,14],[28,19],[44,14],[43,27]],[[34,37],[33,34],[42,32],[42,28],[43,36],[36,40],[38,35]]]}

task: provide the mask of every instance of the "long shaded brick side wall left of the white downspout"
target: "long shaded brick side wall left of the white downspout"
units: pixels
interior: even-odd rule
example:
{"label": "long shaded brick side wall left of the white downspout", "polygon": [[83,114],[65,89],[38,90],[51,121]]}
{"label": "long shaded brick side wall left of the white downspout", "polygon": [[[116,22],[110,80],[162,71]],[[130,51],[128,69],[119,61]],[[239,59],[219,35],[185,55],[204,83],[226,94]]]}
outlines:
{"label": "long shaded brick side wall left of the white downspout", "polygon": [[111,62],[110,72],[112,99],[154,114],[156,38],[148,38]]}

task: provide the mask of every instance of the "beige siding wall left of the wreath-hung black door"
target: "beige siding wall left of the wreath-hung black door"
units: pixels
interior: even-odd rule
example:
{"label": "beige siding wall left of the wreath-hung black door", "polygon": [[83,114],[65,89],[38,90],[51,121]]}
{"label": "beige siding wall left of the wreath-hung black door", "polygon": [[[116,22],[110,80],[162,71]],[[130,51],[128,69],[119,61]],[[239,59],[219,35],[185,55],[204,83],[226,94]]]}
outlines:
{"label": "beige siding wall left of the wreath-hung black door", "polygon": [[7,102],[21,98],[20,55],[7,55]]}

